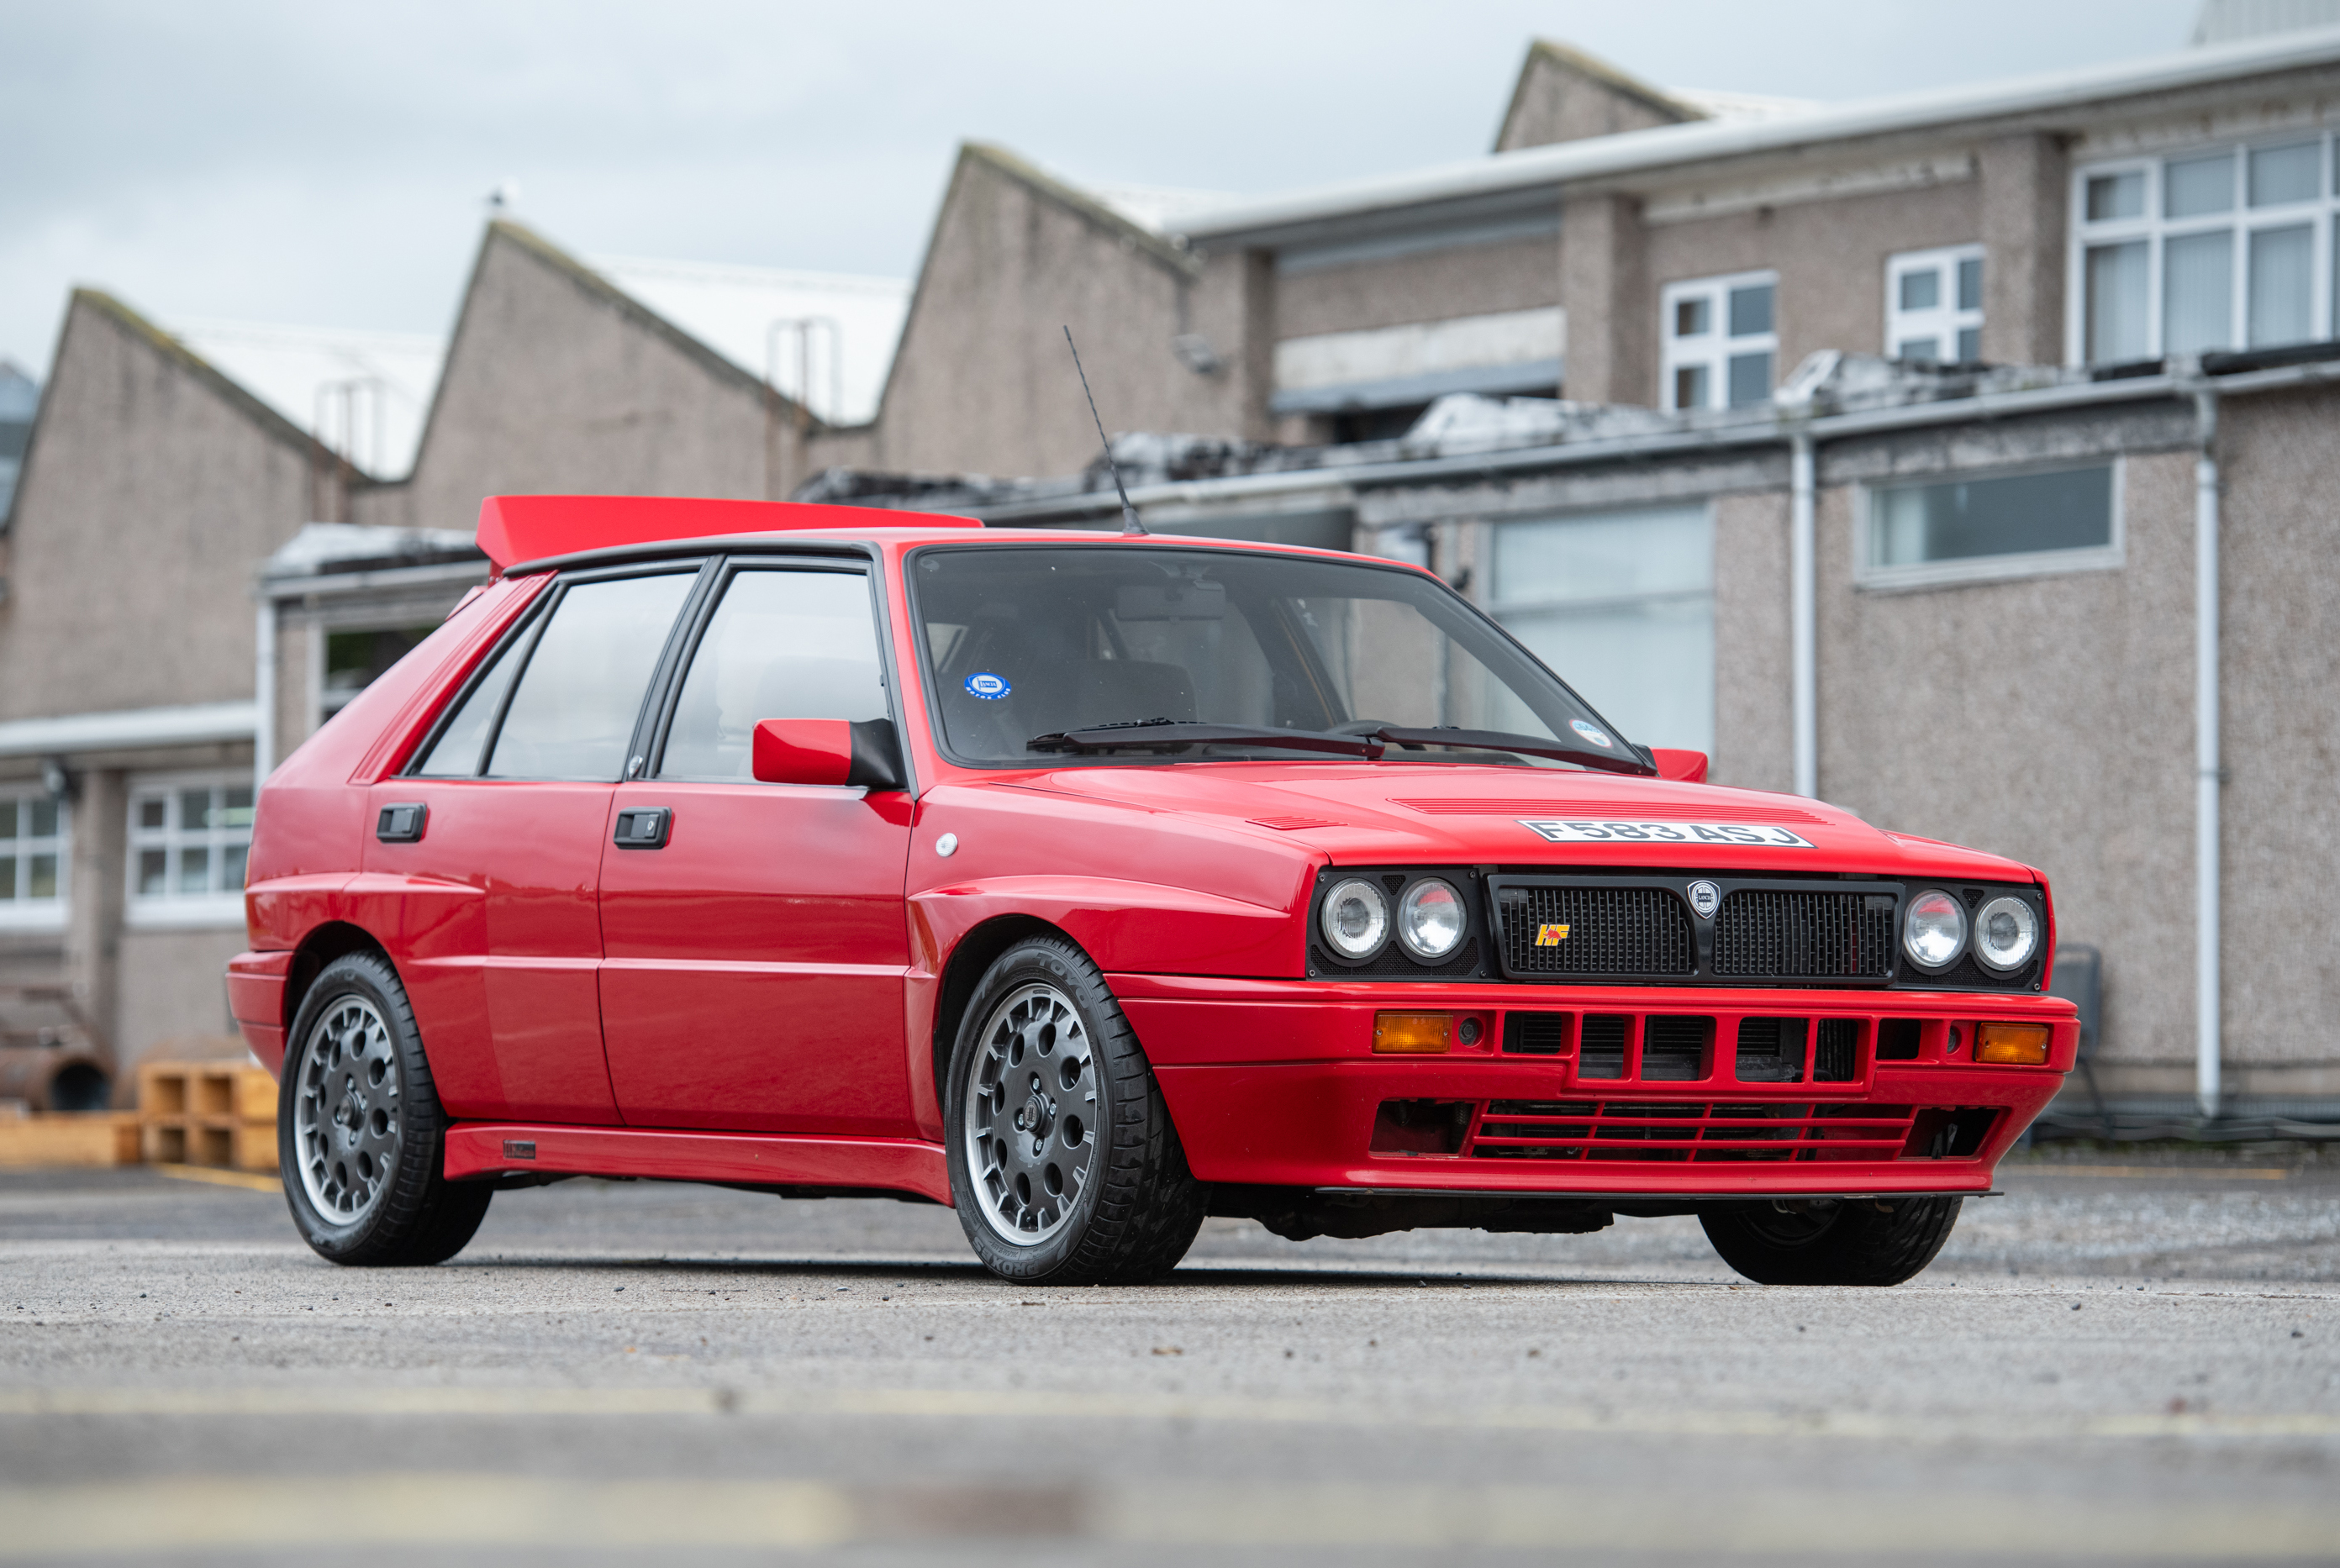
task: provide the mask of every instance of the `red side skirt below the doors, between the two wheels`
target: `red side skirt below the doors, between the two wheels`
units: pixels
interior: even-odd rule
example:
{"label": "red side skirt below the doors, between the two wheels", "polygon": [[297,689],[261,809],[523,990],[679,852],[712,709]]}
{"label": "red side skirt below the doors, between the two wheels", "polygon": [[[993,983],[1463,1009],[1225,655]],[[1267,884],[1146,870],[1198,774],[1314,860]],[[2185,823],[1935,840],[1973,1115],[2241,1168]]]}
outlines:
{"label": "red side skirt below the doors, between the two wheels", "polygon": [[608,1175],[728,1187],[903,1191],[950,1203],[943,1144],[910,1137],[655,1133],[459,1121],[447,1128],[447,1180]]}

